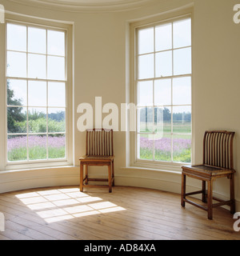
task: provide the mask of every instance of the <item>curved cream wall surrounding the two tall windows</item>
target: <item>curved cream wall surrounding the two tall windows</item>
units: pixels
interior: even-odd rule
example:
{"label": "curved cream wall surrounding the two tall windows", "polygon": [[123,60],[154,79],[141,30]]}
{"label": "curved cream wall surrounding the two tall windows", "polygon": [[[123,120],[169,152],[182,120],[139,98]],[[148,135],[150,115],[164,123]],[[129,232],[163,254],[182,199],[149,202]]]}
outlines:
{"label": "curved cream wall surrounding the two tall windows", "polygon": [[[0,192],[32,186],[78,184],[78,158],[85,154],[85,134],[78,132],[77,106],[102,96],[107,102],[126,102],[129,88],[126,63],[127,24],[130,21],[166,12],[187,4],[194,4],[193,35],[193,120],[195,162],[202,161],[202,136],[205,130],[234,130],[234,167],[237,170],[235,194],[240,211],[240,101],[238,60],[240,51],[240,24],[233,22],[234,0],[158,0],[156,4],[124,12],[68,13],[46,10],[0,0],[6,10],[74,22],[74,167],[66,169],[0,172]],[[2,91],[2,88],[1,88]],[[103,115],[104,118],[104,115]],[[1,131],[2,132],[2,131]],[[180,193],[180,173],[139,170],[126,166],[126,133],[114,135],[116,155],[116,184],[143,186]],[[0,165],[1,166],[1,165]],[[67,175],[67,178],[64,177]],[[36,182],[30,182],[30,178]],[[25,182],[22,182],[26,178]],[[29,181],[29,182],[28,182]],[[46,182],[47,181],[47,182]],[[7,183],[6,183],[7,182]],[[189,180],[189,188],[199,186]],[[229,194],[228,181],[215,183],[214,191],[225,198]]]}

